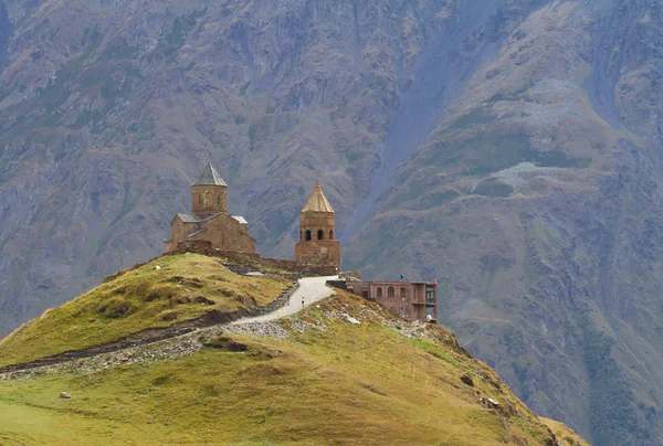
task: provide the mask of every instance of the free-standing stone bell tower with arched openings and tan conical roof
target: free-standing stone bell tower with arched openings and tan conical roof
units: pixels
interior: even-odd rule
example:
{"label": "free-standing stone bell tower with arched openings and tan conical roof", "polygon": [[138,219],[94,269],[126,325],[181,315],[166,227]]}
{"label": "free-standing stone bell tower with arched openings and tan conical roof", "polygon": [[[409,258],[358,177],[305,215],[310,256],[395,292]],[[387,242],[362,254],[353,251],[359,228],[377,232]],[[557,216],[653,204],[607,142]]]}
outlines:
{"label": "free-standing stone bell tower with arched openings and tan conical roof", "polygon": [[340,243],[334,236],[334,209],[319,184],[302,208],[295,261],[302,265],[340,268]]}

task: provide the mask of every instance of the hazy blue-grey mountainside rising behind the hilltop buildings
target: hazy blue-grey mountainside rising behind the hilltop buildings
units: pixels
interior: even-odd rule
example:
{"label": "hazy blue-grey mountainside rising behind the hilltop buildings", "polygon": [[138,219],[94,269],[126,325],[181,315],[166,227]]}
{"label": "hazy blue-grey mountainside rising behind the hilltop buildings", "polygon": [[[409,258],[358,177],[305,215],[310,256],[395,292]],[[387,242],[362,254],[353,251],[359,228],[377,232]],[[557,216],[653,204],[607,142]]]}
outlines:
{"label": "hazy blue-grey mountainside rising behind the hilltop buildings", "polygon": [[0,332],[162,249],[211,157],[596,445],[662,444],[659,0],[0,0]]}

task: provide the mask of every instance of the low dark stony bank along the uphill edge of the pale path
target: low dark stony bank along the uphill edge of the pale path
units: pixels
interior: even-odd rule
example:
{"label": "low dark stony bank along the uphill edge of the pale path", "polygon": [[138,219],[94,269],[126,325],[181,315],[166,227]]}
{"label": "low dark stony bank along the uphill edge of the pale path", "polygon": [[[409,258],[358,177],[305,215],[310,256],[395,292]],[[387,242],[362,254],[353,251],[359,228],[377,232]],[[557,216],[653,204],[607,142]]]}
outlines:
{"label": "low dark stony bank along the uphill edge of the pale path", "polygon": [[281,296],[271,301],[270,304],[257,307],[251,310],[241,310],[241,311],[232,311],[232,312],[221,312],[219,310],[212,310],[201,317],[182,320],[180,322],[175,322],[170,327],[164,328],[148,328],[143,331],[138,331],[136,333],[129,334],[125,338],[122,338],[117,341],[94,346],[83,350],[71,350],[65,351],[63,353],[59,353],[52,357],[41,358],[31,362],[25,362],[22,364],[10,364],[0,368],[0,373],[8,372],[17,372],[21,370],[34,369],[38,367],[44,365],[53,365],[61,362],[72,361],[82,358],[91,358],[96,357],[97,354],[110,353],[119,350],[129,349],[133,347],[144,346],[148,343],[154,343],[158,341],[162,341],[170,338],[176,338],[182,334],[190,333],[201,328],[207,328],[211,326],[230,323],[235,320],[245,318],[245,317],[255,317],[263,316],[269,312],[275,311],[276,309],[283,307],[287,299],[295,293],[295,290],[299,287],[298,283],[293,283],[290,288],[285,289]]}

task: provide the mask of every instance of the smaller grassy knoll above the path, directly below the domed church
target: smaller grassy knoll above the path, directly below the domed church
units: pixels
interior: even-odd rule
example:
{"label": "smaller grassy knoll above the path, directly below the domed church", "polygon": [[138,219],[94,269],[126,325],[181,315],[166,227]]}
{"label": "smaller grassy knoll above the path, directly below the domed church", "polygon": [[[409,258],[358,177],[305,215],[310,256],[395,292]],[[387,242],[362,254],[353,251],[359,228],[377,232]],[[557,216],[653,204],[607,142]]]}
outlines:
{"label": "smaller grassy knoll above the path, directly below the domed church", "polygon": [[203,255],[159,257],[19,328],[0,341],[0,367],[113,342],[212,310],[264,306],[290,284],[276,276],[241,276]]}

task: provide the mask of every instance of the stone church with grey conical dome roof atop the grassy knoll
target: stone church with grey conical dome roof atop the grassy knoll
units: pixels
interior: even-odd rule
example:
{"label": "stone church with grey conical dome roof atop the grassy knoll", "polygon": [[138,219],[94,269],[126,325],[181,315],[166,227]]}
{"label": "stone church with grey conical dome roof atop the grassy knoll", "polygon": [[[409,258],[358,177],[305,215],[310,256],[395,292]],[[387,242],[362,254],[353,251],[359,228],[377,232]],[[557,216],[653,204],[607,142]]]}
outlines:
{"label": "stone church with grey conical dome roof atop the grassy knoll", "polygon": [[249,235],[246,220],[227,213],[228,184],[211,162],[191,185],[191,213],[177,214],[170,222],[166,253],[177,249],[180,242],[199,240],[211,242],[220,251],[255,252],[255,238]]}

